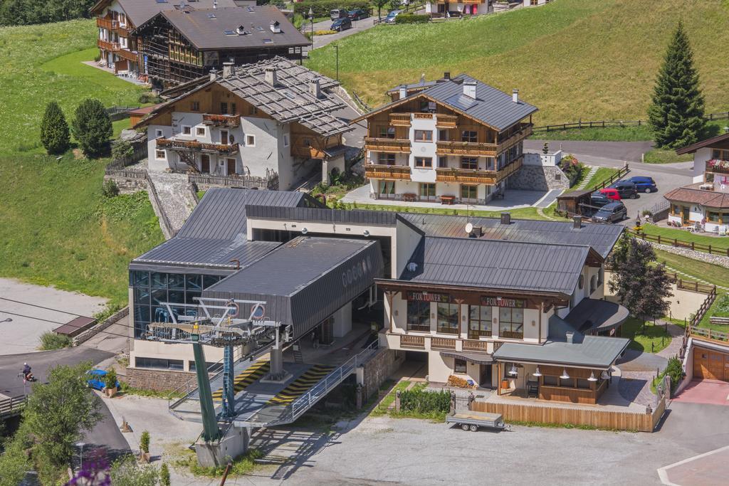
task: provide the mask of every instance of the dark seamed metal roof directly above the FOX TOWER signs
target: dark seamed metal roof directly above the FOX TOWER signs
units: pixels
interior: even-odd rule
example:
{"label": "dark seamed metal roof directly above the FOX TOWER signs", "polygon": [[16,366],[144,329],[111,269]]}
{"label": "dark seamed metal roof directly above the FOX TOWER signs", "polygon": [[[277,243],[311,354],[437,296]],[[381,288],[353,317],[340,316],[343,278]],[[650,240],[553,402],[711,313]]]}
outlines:
{"label": "dark seamed metal roof directly above the FOX TOWER signs", "polygon": [[571,295],[589,254],[589,246],[425,237],[408,262],[416,270],[406,265],[399,280]]}

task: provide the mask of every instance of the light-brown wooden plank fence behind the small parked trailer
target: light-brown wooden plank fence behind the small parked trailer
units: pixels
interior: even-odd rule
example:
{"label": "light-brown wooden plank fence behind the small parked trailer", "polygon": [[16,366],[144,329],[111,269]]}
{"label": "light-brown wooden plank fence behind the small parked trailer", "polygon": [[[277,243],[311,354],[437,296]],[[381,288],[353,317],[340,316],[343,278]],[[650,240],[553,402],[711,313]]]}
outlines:
{"label": "light-brown wooden plank fence behind the small parked trailer", "polygon": [[474,401],[471,409],[477,412],[499,413],[507,422],[549,423],[556,425],[609,428],[618,431],[652,432],[666,410],[663,396],[655,409],[639,412],[615,412],[605,409],[550,407],[546,404],[507,404]]}

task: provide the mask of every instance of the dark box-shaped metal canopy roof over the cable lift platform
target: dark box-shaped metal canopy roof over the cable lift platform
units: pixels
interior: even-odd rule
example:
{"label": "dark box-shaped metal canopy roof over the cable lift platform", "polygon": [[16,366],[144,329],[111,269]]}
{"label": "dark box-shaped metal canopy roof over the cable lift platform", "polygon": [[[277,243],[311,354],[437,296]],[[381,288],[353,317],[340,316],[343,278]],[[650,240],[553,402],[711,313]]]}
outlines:
{"label": "dark box-shaped metal canopy roof over the cable lift platform", "polygon": [[267,317],[292,324],[296,338],[369,289],[383,265],[376,240],[299,237],[219,281],[203,296],[265,300]]}

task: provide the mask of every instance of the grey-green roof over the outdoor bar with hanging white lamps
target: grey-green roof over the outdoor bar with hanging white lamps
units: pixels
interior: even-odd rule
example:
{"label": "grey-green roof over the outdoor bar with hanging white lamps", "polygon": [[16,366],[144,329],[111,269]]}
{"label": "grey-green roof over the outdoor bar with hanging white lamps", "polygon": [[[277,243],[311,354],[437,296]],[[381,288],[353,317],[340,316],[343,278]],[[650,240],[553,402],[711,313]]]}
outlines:
{"label": "grey-green roof over the outdoor bar with hanging white lamps", "polygon": [[[549,320],[550,340],[542,345],[505,342],[494,352],[497,361],[517,361],[538,364],[593,367],[608,369],[630,340],[623,337],[585,336],[574,331],[572,326],[553,315]],[[553,332],[553,327],[559,331]],[[566,342],[561,331],[573,332],[572,342]]]}

